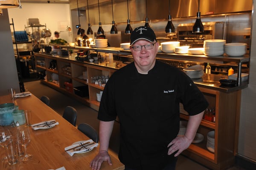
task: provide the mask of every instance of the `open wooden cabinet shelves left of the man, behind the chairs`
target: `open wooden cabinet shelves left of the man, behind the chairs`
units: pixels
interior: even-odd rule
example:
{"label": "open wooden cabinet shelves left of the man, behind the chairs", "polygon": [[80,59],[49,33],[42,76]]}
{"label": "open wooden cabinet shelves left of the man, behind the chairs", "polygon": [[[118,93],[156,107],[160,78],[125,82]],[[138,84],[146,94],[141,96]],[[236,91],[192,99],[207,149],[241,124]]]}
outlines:
{"label": "open wooden cabinet shelves left of the man, behind the chairs", "polygon": [[116,71],[114,68],[38,53],[35,54],[35,63],[38,72],[46,72],[42,83],[96,110],[100,103],[97,101],[97,93],[103,91],[104,87],[95,84],[92,78],[109,78]]}

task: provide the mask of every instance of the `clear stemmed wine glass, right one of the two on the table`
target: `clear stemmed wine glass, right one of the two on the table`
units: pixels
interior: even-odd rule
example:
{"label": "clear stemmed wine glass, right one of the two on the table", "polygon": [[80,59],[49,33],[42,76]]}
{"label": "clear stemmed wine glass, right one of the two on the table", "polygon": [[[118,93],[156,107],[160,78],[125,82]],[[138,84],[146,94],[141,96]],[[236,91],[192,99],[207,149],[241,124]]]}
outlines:
{"label": "clear stemmed wine glass, right one of the two on the table", "polygon": [[28,128],[19,129],[17,133],[17,140],[18,140],[18,143],[24,147],[24,155],[20,156],[20,160],[27,161],[30,158],[32,158],[31,154],[27,154],[27,148],[26,148],[27,144],[29,144],[30,142],[29,129]]}

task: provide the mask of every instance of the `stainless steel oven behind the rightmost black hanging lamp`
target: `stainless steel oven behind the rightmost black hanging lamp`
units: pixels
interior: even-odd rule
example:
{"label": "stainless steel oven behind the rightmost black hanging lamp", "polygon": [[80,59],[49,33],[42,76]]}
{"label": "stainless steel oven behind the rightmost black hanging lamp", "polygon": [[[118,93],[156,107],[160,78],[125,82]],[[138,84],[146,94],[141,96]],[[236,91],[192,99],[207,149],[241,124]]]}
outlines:
{"label": "stainless steel oven behind the rightmost black hanging lamp", "polygon": [[190,47],[203,47],[204,40],[223,38],[223,23],[207,22],[203,23],[203,25],[204,32],[192,33],[194,23],[179,24],[177,26],[177,33],[180,46],[189,45]]}

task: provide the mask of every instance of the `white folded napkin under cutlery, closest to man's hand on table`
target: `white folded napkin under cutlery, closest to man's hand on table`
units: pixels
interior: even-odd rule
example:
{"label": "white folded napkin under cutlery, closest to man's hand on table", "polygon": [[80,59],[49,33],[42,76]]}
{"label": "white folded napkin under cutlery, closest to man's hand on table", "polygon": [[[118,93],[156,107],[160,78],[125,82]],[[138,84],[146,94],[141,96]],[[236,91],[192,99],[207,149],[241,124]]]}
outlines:
{"label": "white folded napkin under cutlery, closest to man's hand on table", "polygon": [[[90,142],[89,144],[90,145],[88,145],[87,146],[87,144],[85,144],[85,143],[87,143],[87,142]],[[94,144],[92,144],[92,143],[94,143]],[[81,145],[81,144],[85,144],[84,145],[84,147],[77,147],[77,146],[79,146],[79,145]],[[65,150],[67,150],[66,152],[70,155],[70,156],[73,156],[75,153],[86,153],[86,152],[89,152],[89,151],[91,151],[91,150],[93,150],[93,148],[94,147],[97,147],[99,144],[98,143],[95,143],[92,139],[90,139],[90,140],[87,140],[87,141],[78,141],[78,142],[75,142],[75,143],[73,143],[72,145],[70,145],[70,146],[68,146],[68,147],[65,147]],[[80,149],[81,148],[81,150],[69,150],[69,149],[71,149],[71,148],[73,148],[73,147],[77,147],[77,149]]]}

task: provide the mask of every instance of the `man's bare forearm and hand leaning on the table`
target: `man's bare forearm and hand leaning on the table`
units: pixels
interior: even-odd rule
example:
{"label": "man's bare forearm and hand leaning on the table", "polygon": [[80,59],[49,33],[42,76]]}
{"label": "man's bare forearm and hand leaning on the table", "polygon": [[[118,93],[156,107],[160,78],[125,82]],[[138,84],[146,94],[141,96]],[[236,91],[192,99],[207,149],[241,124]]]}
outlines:
{"label": "man's bare forearm and hand leaning on the table", "polygon": [[108,154],[108,145],[113,130],[114,121],[100,121],[99,122],[99,153],[90,162],[92,170],[99,170],[103,161],[108,161],[112,165],[111,158]]}

